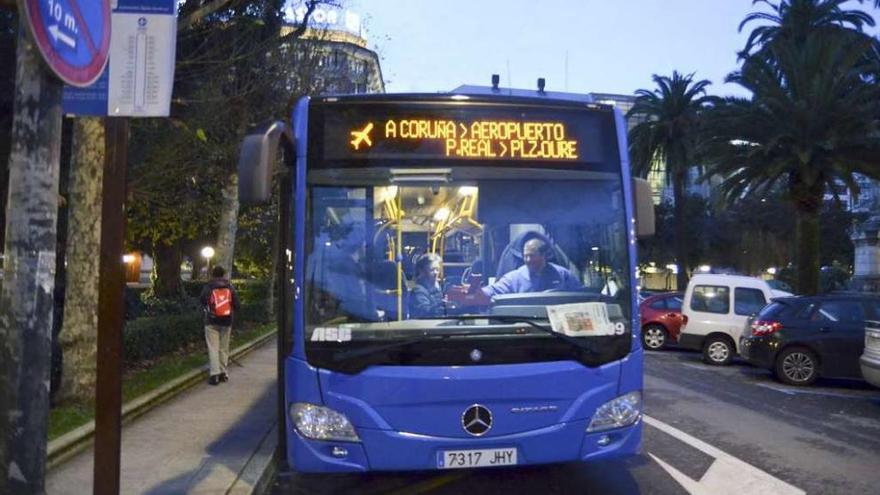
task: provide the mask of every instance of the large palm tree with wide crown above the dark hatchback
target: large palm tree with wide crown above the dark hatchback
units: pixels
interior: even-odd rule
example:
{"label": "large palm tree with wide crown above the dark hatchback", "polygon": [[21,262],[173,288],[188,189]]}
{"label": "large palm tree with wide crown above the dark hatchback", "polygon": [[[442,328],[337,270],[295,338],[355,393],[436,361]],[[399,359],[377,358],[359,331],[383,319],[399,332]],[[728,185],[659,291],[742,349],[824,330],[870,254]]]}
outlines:
{"label": "large palm tree with wide crown above the dark hatchback", "polygon": [[797,290],[819,289],[819,210],[826,188],[853,175],[880,179],[880,85],[864,77],[868,39],[817,32],[775,41],[727,78],[751,98],[708,112],[710,172],[731,201],[785,188],[796,211]]}

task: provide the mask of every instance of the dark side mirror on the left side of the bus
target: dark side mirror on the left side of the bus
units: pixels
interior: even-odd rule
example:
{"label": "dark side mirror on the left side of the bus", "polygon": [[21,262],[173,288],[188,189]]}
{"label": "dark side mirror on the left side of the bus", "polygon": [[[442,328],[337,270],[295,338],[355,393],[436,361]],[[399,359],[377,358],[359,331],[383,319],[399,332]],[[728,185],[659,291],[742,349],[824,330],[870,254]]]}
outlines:
{"label": "dark side mirror on the left side of the bus", "polygon": [[238,199],[265,203],[272,195],[272,174],[279,147],[293,156],[293,136],[283,122],[263,125],[244,137],[238,155]]}

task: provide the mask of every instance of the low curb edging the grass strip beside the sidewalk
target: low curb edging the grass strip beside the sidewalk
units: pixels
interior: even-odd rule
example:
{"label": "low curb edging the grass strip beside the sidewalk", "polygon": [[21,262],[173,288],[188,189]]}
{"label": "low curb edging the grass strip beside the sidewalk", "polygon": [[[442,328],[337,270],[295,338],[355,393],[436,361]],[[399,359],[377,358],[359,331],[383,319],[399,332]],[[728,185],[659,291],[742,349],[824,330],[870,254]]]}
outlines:
{"label": "low curb edging the grass strip beside the sidewalk", "polygon": [[[234,360],[247,355],[250,351],[274,338],[276,333],[277,331],[269,332],[262,337],[257,337],[250,342],[236,347],[229,353],[229,359]],[[189,388],[203,382],[207,377],[208,365],[204,365],[201,368],[175,378],[151,392],[126,402],[122,405],[122,424],[131,423],[163,402],[173,399]],[[55,469],[70,458],[91,447],[94,443],[94,436],[95,421],[92,420],[49,442],[46,449],[46,470]]]}

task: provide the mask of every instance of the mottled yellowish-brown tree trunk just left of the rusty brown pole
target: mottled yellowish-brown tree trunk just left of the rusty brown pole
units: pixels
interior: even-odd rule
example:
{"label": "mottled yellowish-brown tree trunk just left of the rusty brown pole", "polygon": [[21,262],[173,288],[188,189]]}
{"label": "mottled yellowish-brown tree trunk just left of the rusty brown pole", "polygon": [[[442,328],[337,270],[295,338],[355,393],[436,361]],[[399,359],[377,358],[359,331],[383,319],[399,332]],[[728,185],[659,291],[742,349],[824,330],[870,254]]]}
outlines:
{"label": "mottled yellowish-brown tree trunk just left of the rusty brown pole", "polygon": [[61,329],[61,399],[94,400],[98,339],[98,262],[104,123],[76,119],[68,215],[67,291]]}

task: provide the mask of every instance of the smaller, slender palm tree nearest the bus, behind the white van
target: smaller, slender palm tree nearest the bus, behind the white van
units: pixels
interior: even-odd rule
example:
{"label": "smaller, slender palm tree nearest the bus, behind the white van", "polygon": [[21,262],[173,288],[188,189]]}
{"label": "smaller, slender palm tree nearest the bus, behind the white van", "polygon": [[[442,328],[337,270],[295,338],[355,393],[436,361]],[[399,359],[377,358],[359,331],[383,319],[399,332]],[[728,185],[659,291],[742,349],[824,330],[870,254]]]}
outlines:
{"label": "smaller, slender palm tree nearest the bus, behind the white van", "polygon": [[665,163],[666,180],[672,183],[679,290],[688,282],[684,193],[688,170],[693,166],[700,114],[711,100],[706,96],[706,86],[711,83],[705,79],[694,82],[693,76],[677,71],[672,72],[672,77],[655,74],[657,89],[636,91],[635,104],[627,113],[627,118],[645,119],[629,132],[633,173],[644,177],[658,164]]}

